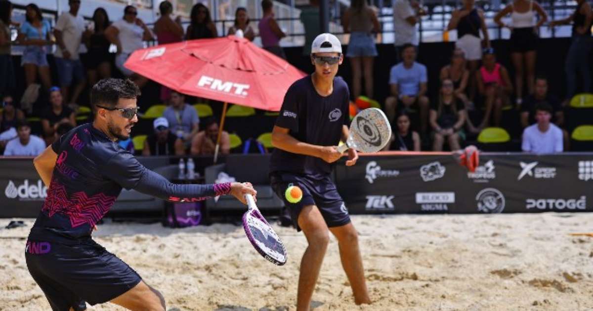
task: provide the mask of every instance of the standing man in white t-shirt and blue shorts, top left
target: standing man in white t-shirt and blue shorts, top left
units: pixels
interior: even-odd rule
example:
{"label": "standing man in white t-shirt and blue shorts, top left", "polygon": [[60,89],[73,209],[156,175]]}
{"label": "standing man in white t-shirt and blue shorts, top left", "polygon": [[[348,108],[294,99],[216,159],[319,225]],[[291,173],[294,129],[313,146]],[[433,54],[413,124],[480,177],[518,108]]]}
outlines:
{"label": "standing man in white t-shirt and blue shorts, top left", "polygon": [[[70,11],[63,12],[58,18],[58,23],[53,30],[56,36],[58,49],[54,54],[56,66],[58,67],[58,78],[62,89],[62,96],[69,104],[75,104],[78,96],[86,83],[84,68],[79,57],[79,49],[86,52],[86,47],[81,47],[82,33],[84,32],[84,20],[78,15],[80,0],[69,0]],[[69,86],[76,79],[76,86],[72,91],[72,97],[68,97]]]}

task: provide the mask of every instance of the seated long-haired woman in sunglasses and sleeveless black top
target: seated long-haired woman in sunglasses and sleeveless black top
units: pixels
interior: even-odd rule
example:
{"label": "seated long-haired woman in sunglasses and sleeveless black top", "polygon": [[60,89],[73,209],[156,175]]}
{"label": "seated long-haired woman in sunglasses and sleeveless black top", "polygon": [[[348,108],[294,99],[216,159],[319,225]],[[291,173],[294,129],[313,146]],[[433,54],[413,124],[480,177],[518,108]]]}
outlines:
{"label": "seated long-haired woman in sunglasses and sleeveless black top", "polygon": [[[436,104],[438,102],[438,104]],[[438,101],[431,105],[431,126],[435,131],[432,150],[441,151],[445,139],[451,151],[461,149],[460,131],[466,123],[466,110],[463,102],[455,97],[455,89],[451,79],[441,82],[441,92]]]}

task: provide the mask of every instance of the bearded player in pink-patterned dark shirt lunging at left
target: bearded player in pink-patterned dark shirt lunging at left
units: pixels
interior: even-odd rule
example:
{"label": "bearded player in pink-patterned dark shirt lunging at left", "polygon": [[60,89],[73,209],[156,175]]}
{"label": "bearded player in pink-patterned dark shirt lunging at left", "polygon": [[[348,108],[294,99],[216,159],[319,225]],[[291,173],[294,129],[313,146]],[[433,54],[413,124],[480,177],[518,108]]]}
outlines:
{"label": "bearded player in pink-patterned dark shirt lunging at left", "polygon": [[119,147],[138,121],[138,86],[103,79],[91,90],[93,123],[75,127],[34,160],[47,198],[25,248],[27,268],[53,310],[111,302],[130,310],[165,310],[165,300],[138,273],[94,242],[95,224],[126,189],[168,201],[256,194],[251,184],[171,184]]}

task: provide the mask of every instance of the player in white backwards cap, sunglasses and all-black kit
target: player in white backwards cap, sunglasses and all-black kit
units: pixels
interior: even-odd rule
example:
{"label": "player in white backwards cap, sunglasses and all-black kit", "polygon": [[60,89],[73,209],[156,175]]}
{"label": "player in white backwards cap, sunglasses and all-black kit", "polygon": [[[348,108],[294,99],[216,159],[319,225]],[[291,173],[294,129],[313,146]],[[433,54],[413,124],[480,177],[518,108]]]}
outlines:
{"label": "player in white backwards cap, sunglasses and all-black kit", "polygon": [[[311,48],[315,72],[290,86],[272,131],[275,149],[270,160],[270,182],[308,242],[301,261],[297,310],[310,308],[330,231],[339,243],[342,267],[355,303],[371,303],[358,233],[330,178],[335,162],[342,157],[337,145],[349,134],[348,86],[342,78],[336,78],[342,61],[342,45],[336,36],[317,36]],[[356,150],[349,149],[346,165],[354,165],[357,159]],[[302,191],[302,197],[296,200],[291,195],[294,186]],[[291,191],[286,191],[288,187]]]}

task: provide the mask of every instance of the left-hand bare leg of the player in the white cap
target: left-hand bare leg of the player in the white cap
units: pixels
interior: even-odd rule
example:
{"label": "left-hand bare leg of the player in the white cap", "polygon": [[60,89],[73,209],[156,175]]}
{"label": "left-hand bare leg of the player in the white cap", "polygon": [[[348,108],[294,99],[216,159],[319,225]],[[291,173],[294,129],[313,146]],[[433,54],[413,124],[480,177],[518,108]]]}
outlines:
{"label": "left-hand bare leg of the player in the white cap", "polygon": [[303,207],[298,216],[298,225],[305,233],[309,245],[301,259],[301,271],[298,280],[297,310],[307,311],[317,283],[321,263],[326,255],[330,241],[329,230],[317,206]]}

